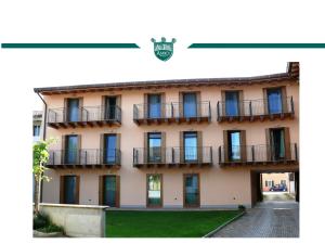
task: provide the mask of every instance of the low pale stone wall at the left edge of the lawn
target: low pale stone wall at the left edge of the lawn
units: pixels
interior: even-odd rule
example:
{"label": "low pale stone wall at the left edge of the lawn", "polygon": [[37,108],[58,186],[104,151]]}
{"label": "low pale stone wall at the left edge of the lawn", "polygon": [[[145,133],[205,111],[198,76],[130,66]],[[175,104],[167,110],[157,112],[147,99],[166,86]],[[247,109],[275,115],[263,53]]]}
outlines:
{"label": "low pale stone wall at the left edge of the lawn", "polygon": [[105,236],[105,206],[41,204],[40,211],[74,237]]}

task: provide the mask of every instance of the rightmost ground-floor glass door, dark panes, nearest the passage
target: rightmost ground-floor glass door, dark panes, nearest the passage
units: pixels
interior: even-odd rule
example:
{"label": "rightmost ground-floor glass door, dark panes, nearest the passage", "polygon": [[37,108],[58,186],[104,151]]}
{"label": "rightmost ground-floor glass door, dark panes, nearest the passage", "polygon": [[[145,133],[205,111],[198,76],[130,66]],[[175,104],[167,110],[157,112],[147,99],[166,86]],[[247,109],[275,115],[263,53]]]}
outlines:
{"label": "rightmost ground-floor glass door, dark panes, nearest the passage", "polygon": [[184,175],[184,207],[199,207],[199,177]]}

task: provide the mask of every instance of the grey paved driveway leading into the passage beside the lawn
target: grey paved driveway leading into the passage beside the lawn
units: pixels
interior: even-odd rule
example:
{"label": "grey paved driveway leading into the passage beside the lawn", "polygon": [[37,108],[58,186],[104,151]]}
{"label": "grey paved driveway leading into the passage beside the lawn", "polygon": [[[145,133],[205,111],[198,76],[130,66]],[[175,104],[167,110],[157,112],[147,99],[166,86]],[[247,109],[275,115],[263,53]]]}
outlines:
{"label": "grey paved driveway leading into the passage beside the lawn", "polygon": [[299,237],[299,204],[294,201],[265,201],[213,237]]}

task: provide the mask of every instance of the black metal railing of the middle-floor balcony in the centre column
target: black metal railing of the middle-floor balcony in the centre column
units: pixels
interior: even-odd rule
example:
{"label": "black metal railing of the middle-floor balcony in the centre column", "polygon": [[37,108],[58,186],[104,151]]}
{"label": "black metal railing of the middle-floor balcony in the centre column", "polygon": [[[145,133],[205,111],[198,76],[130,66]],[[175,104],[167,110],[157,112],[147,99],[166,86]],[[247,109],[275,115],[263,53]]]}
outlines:
{"label": "black metal railing of the middle-floor balcony in the centre column", "polygon": [[136,147],[133,149],[134,167],[211,166],[212,147]]}

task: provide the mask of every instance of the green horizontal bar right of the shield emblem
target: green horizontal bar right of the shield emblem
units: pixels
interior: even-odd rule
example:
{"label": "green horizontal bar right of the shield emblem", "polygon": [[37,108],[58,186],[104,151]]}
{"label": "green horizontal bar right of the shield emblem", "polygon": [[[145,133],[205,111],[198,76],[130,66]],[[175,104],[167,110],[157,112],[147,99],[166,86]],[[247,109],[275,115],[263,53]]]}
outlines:
{"label": "green horizontal bar right of the shield emblem", "polygon": [[324,49],[325,43],[192,43],[188,49]]}

